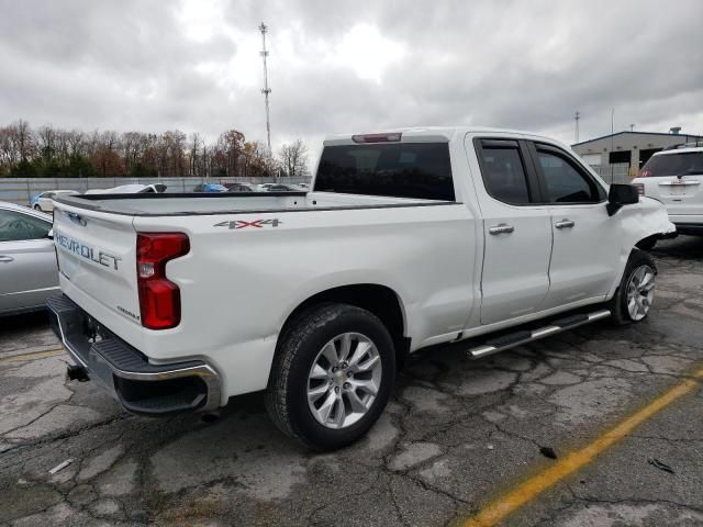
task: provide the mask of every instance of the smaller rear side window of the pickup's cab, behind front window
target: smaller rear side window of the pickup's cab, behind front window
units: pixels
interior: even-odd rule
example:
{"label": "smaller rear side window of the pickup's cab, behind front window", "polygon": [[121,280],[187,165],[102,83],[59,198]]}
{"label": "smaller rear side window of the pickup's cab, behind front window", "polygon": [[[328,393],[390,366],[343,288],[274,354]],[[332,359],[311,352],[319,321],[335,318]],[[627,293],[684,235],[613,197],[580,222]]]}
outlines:
{"label": "smaller rear side window of the pickup's cab, behind front window", "polygon": [[482,141],[479,150],[486,190],[504,203],[531,203],[525,166],[516,141]]}

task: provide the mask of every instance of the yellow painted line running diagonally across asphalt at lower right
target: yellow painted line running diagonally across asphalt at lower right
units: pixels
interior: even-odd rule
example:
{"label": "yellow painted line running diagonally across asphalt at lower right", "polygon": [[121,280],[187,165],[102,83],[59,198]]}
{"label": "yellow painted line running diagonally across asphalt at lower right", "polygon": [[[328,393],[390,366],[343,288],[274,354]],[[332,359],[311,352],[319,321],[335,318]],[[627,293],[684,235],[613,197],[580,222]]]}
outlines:
{"label": "yellow painted line running diagonally across asphalt at lower right", "polygon": [[702,379],[703,369],[693,373],[691,379],[687,379],[668,392],[665,392],[647,406],[631,415],[581,450],[569,452],[548,469],[518,484],[513,491],[499,496],[483,507],[476,516],[460,525],[462,527],[492,527],[499,524],[507,515],[527,504],[563,478],[589,464],[596,456],[626,437],[645,421],[694,390]]}

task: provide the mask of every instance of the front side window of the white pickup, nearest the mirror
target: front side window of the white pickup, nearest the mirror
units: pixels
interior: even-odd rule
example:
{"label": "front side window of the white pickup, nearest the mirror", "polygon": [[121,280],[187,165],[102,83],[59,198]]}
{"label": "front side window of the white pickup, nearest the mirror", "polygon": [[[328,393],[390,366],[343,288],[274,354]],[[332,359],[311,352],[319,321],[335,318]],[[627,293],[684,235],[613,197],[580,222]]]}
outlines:
{"label": "front side window of the white pickup, nearest the mirror", "polygon": [[566,156],[537,147],[549,203],[599,203],[604,192],[592,178],[577,169]]}

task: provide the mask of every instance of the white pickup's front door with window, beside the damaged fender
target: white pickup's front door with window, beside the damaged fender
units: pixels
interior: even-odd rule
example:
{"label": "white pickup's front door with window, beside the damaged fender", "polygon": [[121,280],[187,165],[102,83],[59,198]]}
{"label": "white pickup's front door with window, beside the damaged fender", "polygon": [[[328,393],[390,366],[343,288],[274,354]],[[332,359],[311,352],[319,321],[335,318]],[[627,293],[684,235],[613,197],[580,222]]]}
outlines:
{"label": "white pickup's front door with window, beside the damaged fender", "polygon": [[554,145],[529,143],[554,244],[544,307],[605,295],[616,274],[621,222],[605,208],[607,194],[578,160]]}

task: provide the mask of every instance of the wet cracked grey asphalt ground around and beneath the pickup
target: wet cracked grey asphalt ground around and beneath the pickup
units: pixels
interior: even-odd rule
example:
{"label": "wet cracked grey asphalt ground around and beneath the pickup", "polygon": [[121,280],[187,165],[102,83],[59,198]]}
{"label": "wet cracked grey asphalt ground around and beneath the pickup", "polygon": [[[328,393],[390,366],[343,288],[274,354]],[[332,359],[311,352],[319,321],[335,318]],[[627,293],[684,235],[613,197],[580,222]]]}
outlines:
{"label": "wet cracked grey asphalt ground around and beneath the pickup", "polygon": [[[0,525],[460,525],[701,367],[703,238],[654,254],[646,322],[481,361],[414,356],[368,437],[322,456],[278,433],[258,394],[209,422],[129,415],[66,382],[45,315],[0,319]],[[702,407],[699,382],[505,525],[703,525]]]}

